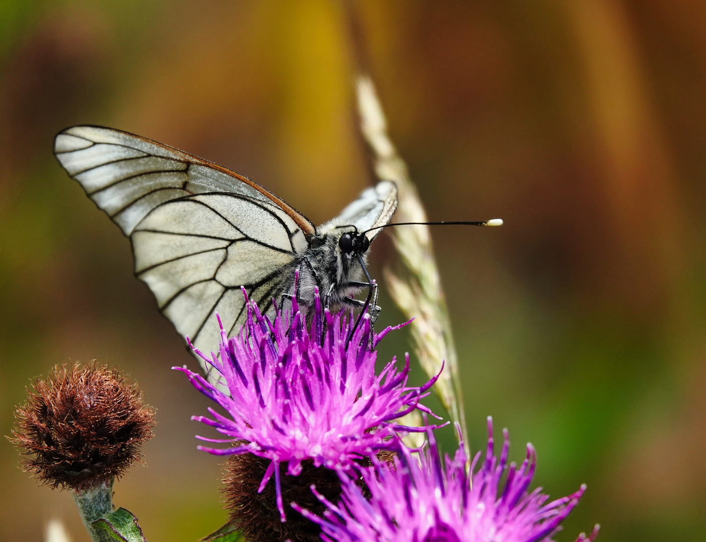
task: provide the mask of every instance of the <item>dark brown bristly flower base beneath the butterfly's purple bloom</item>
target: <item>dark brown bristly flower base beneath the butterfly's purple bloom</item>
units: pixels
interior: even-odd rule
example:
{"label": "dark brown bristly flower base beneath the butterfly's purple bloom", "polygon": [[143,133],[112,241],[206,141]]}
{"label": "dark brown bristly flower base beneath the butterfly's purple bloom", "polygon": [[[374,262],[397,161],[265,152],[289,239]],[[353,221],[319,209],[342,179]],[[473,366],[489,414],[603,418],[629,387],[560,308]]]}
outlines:
{"label": "dark brown bristly flower base beneath the butterfly's purple bloom", "polygon": [[[378,459],[392,464],[394,452],[378,452]],[[362,464],[371,464],[369,459]],[[230,522],[236,524],[248,542],[321,542],[321,527],[289,507],[297,502],[316,514],[323,514],[326,507],[311,492],[311,485],[331,502],[338,502],[341,482],[335,471],[313,466],[313,460],[301,463],[299,476],[287,474],[287,464],[280,464],[282,502],[287,511],[287,521],[280,521],[275,502],[275,483],[270,480],[262,493],[258,493],[270,460],[253,454],[232,455],[225,465],[224,493]]]}

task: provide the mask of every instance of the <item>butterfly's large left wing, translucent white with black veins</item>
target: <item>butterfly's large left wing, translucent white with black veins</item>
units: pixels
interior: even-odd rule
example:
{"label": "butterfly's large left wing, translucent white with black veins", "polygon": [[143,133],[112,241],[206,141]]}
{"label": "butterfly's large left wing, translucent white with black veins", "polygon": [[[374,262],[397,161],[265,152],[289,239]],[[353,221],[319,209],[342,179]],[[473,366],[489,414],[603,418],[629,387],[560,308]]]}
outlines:
{"label": "butterfly's large left wing, translucent white with black veins", "polygon": [[123,131],[74,126],[56,158],[130,237],[135,273],[160,311],[205,353],[244,319],[241,285],[266,311],[311,222],[247,177]]}

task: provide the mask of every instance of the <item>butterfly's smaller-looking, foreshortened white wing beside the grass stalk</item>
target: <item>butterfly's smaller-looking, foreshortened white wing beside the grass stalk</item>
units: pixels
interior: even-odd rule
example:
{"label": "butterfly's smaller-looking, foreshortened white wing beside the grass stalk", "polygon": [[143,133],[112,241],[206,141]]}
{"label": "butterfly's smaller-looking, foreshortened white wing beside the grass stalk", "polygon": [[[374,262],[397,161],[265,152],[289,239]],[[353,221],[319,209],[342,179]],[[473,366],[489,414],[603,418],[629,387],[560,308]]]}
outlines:
{"label": "butterfly's smaller-looking, foreshortened white wing beside the grass stalk", "polygon": [[[321,228],[339,225],[354,225],[358,231],[369,230],[388,224],[397,210],[397,185],[392,181],[378,182],[375,187],[365,189],[358,199],[346,206],[340,215]],[[382,229],[366,233],[369,240],[375,239]]]}

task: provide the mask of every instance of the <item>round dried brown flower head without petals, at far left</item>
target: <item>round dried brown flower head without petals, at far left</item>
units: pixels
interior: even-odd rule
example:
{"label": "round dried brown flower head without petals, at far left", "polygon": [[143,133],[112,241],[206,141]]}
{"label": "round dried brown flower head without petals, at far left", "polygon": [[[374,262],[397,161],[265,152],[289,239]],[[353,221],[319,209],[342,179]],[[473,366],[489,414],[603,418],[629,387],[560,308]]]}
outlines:
{"label": "round dried brown flower head without petals, at far left", "polygon": [[32,384],[16,411],[10,440],[23,449],[25,470],[54,488],[91,488],[121,476],[140,460],[155,413],[116,369],[90,363],[58,365]]}

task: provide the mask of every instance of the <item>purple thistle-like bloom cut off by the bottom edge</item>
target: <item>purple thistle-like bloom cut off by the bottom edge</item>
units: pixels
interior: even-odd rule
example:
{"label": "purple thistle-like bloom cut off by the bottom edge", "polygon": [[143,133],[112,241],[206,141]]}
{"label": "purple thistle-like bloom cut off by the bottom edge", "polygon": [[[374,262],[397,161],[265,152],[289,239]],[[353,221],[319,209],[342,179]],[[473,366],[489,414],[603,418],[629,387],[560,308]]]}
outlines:
{"label": "purple thistle-like bloom cut off by the bottom edge", "polygon": [[[337,505],[311,487],[328,507],[324,517],[295,503],[292,507],[320,524],[327,542],[550,542],[586,486],[551,502],[541,488],[530,492],[536,465],[534,448],[527,444],[527,459],[519,469],[514,463],[508,467],[508,432],[503,431],[505,442],[498,459],[493,455],[491,418],[488,427],[485,461],[472,479],[466,473],[463,443],[453,460],[445,456],[444,470],[429,430],[429,448],[419,453],[419,459],[400,444],[393,466],[373,458],[372,467],[359,469],[368,498],[355,476],[340,473],[342,500]],[[480,452],[471,473],[479,457]],[[591,542],[597,533],[598,526],[589,537],[581,534],[577,542]]]}

